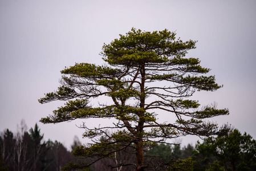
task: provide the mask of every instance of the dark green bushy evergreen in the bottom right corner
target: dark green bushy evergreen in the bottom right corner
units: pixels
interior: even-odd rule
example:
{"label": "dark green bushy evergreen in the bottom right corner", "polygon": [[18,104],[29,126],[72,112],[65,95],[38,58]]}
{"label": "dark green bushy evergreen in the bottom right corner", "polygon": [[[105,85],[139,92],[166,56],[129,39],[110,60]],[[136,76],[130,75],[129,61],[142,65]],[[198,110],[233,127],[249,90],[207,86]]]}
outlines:
{"label": "dark green bushy evergreen in the bottom right corner", "polygon": [[255,170],[256,141],[234,129],[228,136],[198,143],[194,152],[195,170]]}

